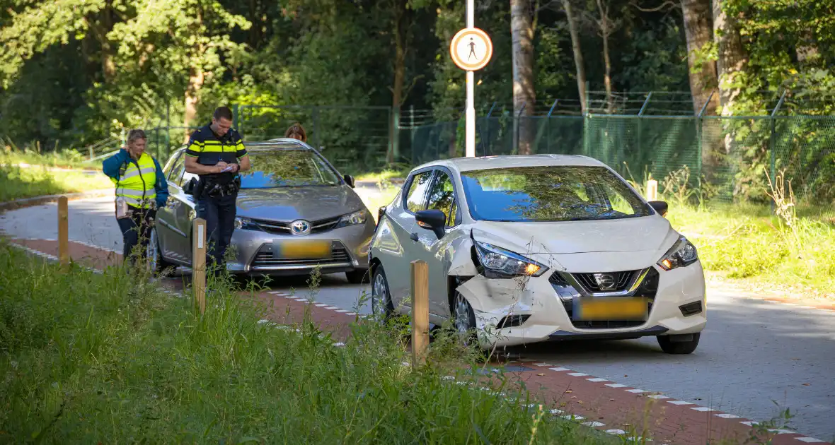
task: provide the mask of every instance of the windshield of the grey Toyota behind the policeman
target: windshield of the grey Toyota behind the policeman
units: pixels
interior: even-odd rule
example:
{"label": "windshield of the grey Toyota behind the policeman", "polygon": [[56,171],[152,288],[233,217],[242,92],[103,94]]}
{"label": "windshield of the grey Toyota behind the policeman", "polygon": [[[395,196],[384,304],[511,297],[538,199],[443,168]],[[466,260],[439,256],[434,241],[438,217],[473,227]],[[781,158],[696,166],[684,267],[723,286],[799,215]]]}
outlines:
{"label": "windshield of the grey Toyota behind the policeman", "polygon": [[335,186],[337,174],[310,150],[250,150],[252,168],[240,188]]}

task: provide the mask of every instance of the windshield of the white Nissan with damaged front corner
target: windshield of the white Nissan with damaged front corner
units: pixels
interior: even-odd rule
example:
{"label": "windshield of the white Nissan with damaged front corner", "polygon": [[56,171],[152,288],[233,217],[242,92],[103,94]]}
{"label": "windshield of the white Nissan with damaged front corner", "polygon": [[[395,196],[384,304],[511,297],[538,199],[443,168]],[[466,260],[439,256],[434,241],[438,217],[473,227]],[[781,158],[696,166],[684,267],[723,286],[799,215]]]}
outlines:
{"label": "windshield of the white Nissan with damaged front corner", "polygon": [[595,221],[650,215],[625,183],[603,167],[494,168],[461,173],[476,220]]}

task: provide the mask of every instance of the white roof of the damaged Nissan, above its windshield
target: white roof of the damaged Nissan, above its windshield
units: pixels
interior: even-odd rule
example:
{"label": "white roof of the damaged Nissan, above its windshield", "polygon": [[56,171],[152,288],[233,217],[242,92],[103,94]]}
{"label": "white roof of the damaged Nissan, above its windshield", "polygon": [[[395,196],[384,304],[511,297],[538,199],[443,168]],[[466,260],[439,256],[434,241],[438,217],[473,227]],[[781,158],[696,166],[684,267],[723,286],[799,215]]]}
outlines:
{"label": "white roof of the damaged Nissan, above its windshield", "polygon": [[452,158],[439,159],[424,163],[415,168],[447,167],[458,172],[472,172],[476,170],[488,170],[490,168],[516,168],[516,167],[605,167],[595,158],[572,154],[535,154],[535,155],[506,155],[506,156],[482,156],[478,158]]}

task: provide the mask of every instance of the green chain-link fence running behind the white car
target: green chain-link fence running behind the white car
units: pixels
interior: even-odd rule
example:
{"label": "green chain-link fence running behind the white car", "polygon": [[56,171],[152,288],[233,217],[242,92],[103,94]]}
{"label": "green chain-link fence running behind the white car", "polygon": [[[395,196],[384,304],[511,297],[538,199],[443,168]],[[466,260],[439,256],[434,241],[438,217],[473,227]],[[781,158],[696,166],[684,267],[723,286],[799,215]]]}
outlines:
{"label": "green chain-link fence running behind the white car", "polygon": [[[518,154],[514,124],[534,128],[532,154],[589,156],[695,198],[767,201],[767,175],[785,171],[798,198],[835,202],[835,117],[482,117],[476,155]],[[463,121],[401,130],[402,147],[404,134],[412,165],[463,156]]]}

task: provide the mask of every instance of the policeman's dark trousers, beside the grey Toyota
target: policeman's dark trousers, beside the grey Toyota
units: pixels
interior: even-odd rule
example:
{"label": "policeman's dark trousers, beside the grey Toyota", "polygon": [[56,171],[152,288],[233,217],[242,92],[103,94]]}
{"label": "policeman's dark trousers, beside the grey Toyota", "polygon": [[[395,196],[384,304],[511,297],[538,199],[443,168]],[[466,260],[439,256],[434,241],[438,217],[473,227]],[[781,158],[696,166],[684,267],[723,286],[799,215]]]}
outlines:
{"label": "policeman's dark trousers, beside the grey Toyota", "polygon": [[207,241],[206,266],[218,266],[215,273],[225,268],[226,249],[232,241],[235,231],[235,202],[237,194],[207,197],[202,196],[197,201],[197,218],[206,222]]}

